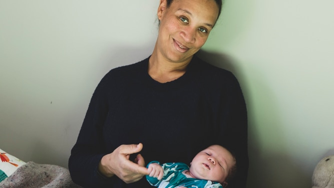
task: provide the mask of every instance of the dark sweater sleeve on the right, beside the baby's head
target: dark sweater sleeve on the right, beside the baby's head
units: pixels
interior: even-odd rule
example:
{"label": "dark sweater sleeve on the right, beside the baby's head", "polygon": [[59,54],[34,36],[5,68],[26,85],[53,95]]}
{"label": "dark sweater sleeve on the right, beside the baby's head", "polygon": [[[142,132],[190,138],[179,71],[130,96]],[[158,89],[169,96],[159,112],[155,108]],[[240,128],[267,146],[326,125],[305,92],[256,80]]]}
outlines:
{"label": "dark sweater sleeve on the right, beside the baby's head", "polygon": [[240,85],[234,75],[225,95],[220,115],[220,139],[223,146],[232,151],[237,163],[237,173],[228,182],[230,188],[245,188],[248,171],[247,109]]}

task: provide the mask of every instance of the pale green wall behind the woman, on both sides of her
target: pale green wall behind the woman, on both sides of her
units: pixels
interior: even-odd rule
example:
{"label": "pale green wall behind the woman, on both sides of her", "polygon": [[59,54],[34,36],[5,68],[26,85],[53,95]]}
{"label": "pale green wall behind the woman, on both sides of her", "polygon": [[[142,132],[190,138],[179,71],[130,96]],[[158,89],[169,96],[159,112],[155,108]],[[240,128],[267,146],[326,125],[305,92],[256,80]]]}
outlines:
{"label": "pale green wall behind the woman, on both sides of her", "polygon": [[[99,80],[151,53],[157,5],[0,0],[0,148],[67,166]],[[248,187],[310,187],[317,161],[333,153],[332,7],[332,0],[226,0],[203,48],[244,91]]]}

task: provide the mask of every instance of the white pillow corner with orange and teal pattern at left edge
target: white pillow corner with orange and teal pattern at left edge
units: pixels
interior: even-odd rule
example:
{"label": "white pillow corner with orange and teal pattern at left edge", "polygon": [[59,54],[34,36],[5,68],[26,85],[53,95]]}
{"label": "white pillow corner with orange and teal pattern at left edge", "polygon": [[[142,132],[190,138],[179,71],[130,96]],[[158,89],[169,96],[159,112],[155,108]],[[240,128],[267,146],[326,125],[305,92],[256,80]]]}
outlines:
{"label": "white pillow corner with orange and teal pattern at left edge", "polygon": [[26,162],[0,149],[0,182]]}

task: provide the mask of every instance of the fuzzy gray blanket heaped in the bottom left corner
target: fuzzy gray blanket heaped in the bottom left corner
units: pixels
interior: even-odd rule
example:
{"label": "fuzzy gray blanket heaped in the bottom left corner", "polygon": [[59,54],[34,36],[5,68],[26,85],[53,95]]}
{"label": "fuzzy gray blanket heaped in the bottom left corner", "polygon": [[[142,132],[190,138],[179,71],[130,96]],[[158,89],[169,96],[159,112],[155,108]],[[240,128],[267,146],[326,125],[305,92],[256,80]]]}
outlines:
{"label": "fuzzy gray blanket heaped in the bottom left corner", "polygon": [[74,187],[75,184],[68,169],[53,164],[27,162],[12,175],[0,182],[0,187],[40,188],[40,187]]}

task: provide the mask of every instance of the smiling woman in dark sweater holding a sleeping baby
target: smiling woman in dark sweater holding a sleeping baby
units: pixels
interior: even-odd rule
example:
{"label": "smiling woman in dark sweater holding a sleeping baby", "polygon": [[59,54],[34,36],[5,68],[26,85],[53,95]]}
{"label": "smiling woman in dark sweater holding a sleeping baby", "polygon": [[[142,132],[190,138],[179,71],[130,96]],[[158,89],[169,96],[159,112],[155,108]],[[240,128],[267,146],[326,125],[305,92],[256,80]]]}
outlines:
{"label": "smiling woman in dark sweater holding a sleeping baby", "polygon": [[92,96],[69,159],[75,182],[148,187],[145,160],[190,163],[200,150],[220,144],[238,161],[229,186],[245,187],[247,114],[240,86],[232,73],[194,55],[220,10],[221,0],[160,0],[152,55],[112,69]]}

